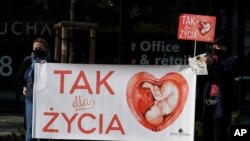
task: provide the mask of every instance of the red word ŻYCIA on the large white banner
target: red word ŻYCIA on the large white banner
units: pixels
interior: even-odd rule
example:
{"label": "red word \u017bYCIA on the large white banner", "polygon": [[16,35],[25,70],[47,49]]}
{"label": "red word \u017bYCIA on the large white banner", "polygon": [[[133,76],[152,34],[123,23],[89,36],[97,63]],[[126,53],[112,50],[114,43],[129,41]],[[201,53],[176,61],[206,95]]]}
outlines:
{"label": "red word \u017bYCIA on the large white banner", "polygon": [[[79,115],[79,113],[74,113],[72,116],[67,116],[66,113],[55,113],[55,112],[45,112],[44,113],[45,116],[52,116],[52,118],[48,121],[48,123],[43,127],[43,132],[52,132],[52,133],[58,133],[59,132],[59,129],[55,127],[55,125],[53,125],[53,123],[56,123],[56,122],[62,122],[63,124],[63,120],[60,118],[63,118],[64,121],[66,121],[66,128],[67,128],[67,133],[71,133],[72,132],[72,125],[73,122],[77,122],[77,127],[75,128],[78,128],[78,130],[84,134],[92,134],[94,132],[97,132],[99,131],[99,134],[103,134],[103,128],[105,127],[104,126],[104,118],[103,118],[103,114],[99,114],[99,117],[93,115],[92,113],[84,113],[84,114],[81,114]],[[61,117],[62,115],[62,117]],[[79,117],[79,116],[80,117]],[[99,120],[96,120],[97,118],[99,118]],[[93,125],[93,127],[87,127],[84,126],[84,123],[93,123],[91,125]],[[96,122],[99,122],[96,124]],[[60,123],[61,124],[61,123]],[[96,125],[97,127],[95,127],[94,125]],[[51,127],[54,127],[54,128],[51,128]],[[99,128],[99,130],[98,130]],[[65,128],[62,128],[62,129],[65,129]],[[122,124],[119,120],[119,117],[115,114],[113,115],[112,119],[110,120],[108,126],[105,130],[105,134],[109,134],[111,131],[119,131],[122,135],[125,135],[125,131],[122,127]]]}

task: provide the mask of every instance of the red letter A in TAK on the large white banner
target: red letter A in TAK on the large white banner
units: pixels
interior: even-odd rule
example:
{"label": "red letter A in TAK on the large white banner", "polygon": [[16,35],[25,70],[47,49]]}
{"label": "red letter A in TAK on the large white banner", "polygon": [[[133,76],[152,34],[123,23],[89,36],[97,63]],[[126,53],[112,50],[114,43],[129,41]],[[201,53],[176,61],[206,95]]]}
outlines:
{"label": "red letter A in TAK on the large white banner", "polygon": [[[80,80],[83,80],[85,85],[79,85]],[[74,93],[76,89],[87,89],[89,94],[93,94],[93,91],[90,88],[88,79],[83,71],[80,71],[80,73],[78,74],[76,81],[70,90],[70,94]]]}

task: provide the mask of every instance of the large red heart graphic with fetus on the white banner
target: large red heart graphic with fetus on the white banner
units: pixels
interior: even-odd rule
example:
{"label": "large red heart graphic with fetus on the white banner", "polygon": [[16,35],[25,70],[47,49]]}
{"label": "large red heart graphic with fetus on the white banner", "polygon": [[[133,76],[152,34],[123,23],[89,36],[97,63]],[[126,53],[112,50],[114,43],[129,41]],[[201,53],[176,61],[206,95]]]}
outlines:
{"label": "large red heart graphic with fetus on the white banner", "polygon": [[127,85],[127,102],[144,127],[158,132],[180,115],[188,96],[187,81],[170,72],[157,79],[147,72],[135,74]]}

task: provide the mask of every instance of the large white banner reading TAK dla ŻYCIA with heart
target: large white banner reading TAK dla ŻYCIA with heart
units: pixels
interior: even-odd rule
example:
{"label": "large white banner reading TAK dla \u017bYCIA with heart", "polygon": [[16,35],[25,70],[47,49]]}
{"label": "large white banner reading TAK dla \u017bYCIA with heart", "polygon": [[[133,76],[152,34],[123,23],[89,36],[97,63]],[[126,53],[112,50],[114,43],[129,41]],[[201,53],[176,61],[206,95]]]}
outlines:
{"label": "large white banner reading TAK dla \u017bYCIA with heart", "polygon": [[35,66],[35,138],[193,141],[196,75],[188,65]]}

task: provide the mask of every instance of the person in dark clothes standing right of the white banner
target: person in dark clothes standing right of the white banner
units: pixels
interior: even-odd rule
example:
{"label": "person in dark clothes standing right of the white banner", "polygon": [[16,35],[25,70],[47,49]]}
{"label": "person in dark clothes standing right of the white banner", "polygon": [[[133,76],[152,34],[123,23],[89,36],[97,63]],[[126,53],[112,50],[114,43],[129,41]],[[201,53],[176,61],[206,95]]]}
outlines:
{"label": "person in dark clothes standing right of the white banner", "polygon": [[[225,36],[219,36],[207,53],[208,75],[198,76],[196,120],[203,123],[205,141],[227,141],[234,104],[236,59]],[[200,105],[199,105],[200,104]]]}

